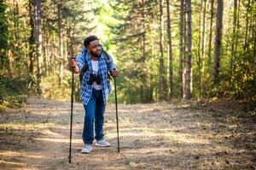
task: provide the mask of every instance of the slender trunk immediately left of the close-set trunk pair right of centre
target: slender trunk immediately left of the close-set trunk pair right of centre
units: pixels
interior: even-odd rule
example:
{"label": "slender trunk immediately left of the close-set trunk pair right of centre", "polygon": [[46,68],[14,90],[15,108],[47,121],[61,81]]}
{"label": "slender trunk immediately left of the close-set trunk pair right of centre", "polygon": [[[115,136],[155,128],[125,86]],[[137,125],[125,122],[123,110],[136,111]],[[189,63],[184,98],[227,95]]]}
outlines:
{"label": "slender trunk immediately left of the close-set trunk pair right of centre", "polygon": [[173,97],[174,87],[173,87],[173,71],[172,71],[172,30],[171,30],[171,16],[170,16],[170,2],[167,0],[167,35],[168,35],[168,45],[169,45],[169,82],[170,82],[170,97]]}

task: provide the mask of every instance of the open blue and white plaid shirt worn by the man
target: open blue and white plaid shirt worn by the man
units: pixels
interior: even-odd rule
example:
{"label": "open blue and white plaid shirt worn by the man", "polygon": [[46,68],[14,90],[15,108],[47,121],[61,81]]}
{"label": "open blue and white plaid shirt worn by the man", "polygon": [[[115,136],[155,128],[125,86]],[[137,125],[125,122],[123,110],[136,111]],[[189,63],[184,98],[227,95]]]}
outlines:
{"label": "open blue and white plaid shirt worn by the man", "polygon": [[[86,62],[88,65],[88,70],[84,73],[83,81],[81,82],[81,98],[84,105],[87,105],[90,96],[92,94],[92,85],[88,85],[87,82],[90,78],[90,73],[92,72],[92,66],[90,61],[90,54],[87,53],[85,48],[82,49],[82,54],[79,54],[77,56],[78,66],[79,70],[81,71],[84,67],[84,63]],[[111,91],[111,85],[108,79],[108,71],[113,71],[113,69],[116,69],[115,65],[113,65],[113,59],[111,56],[109,56],[109,59],[107,56],[102,54],[99,58],[99,72],[102,79],[102,96],[104,104],[107,103],[108,97]]]}

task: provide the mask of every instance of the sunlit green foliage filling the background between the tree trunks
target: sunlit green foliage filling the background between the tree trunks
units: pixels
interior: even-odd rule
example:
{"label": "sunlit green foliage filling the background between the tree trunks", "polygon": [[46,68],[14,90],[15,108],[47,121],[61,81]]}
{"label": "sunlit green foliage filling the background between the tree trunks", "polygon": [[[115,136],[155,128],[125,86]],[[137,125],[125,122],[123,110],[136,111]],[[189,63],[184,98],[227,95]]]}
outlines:
{"label": "sunlit green foliage filling the background between the tree trunks", "polygon": [[[29,1],[10,3],[0,1],[0,77],[2,105],[12,101],[19,103],[25,87],[35,90],[37,82],[37,62],[34,41],[29,41],[35,32],[29,26],[30,17],[35,23],[34,14],[29,14]],[[31,1],[32,2],[32,1]],[[105,49],[113,55],[119,69],[117,79],[119,103],[149,103],[158,99],[160,79],[160,8],[159,1],[74,0],[61,2],[61,34],[59,34],[57,0],[42,1],[43,51],[41,56],[43,97],[69,100],[71,95],[71,73],[67,59],[80,53],[84,37],[91,34],[100,38]],[[166,1],[165,1],[166,2]],[[212,47],[209,48],[209,26],[211,4],[207,3],[205,40],[202,39],[202,14],[204,1],[192,1],[192,77],[193,97],[232,97],[255,99],[255,16],[256,3],[242,1],[239,14],[236,13],[236,31],[233,31],[234,4],[224,1],[223,41],[220,56],[219,82],[212,82],[212,60],[216,23],[216,6],[212,26]],[[34,5],[34,4],[32,4]],[[172,1],[172,68],[174,97],[179,96],[179,5]],[[165,18],[165,79],[168,80],[168,48]],[[32,8],[32,11],[34,7]],[[63,44],[61,58],[59,35]],[[204,47],[202,47],[202,41]],[[204,50],[202,50],[204,48]],[[204,53],[204,54],[202,54]],[[64,71],[61,66],[64,65]],[[183,69],[185,68],[183,60]],[[32,68],[32,69],[31,69]],[[63,80],[60,75],[63,73]],[[4,77],[4,78],[3,78]],[[9,77],[9,78],[7,78]],[[22,78],[20,78],[22,77]],[[23,81],[25,80],[25,81]],[[202,84],[201,81],[202,80]],[[15,82],[16,81],[16,82]],[[19,82],[20,81],[20,82]],[[21,84],[14,86],[12,83]],[[167,83],[169,85],[169,82]],[[80,100],[79,78],[75,78],[75,99]],[[166,88],[170,94],[170,88]],[[201,94],[202,93],[202,94]],[[20,99],[19,99],[20,98]],[[166,99],[169,99],[166,96]],[[110,102],[114,102],[112,93]],[[7,102],[7,103],[6,103]]]}

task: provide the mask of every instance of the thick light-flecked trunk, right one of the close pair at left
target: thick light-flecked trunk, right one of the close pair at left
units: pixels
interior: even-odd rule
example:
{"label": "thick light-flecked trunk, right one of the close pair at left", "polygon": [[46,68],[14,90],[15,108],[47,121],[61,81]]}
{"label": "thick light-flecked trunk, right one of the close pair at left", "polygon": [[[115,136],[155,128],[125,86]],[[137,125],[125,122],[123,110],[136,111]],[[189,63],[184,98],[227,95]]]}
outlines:
{"label": "thick light-flecked trunk, right one of the close pair at left", "polygon": [[41,0],[36,0],[36,26],[37,26],[37,63],[38,63],[38,95],[42,94],[41,88],[41,54],[42,54],[42,31],[41,31]]}

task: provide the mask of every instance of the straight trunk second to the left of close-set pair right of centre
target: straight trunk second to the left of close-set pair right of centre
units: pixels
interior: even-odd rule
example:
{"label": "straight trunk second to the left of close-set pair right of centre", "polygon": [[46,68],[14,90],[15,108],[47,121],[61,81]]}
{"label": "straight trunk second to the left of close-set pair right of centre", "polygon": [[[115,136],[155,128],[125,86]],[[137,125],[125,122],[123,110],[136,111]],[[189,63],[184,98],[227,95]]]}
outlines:
{"label": "straight trunk second to the left of close-set pair right of centre", "polygon": [[160,89],[159,99],[165,99],[166,87],[165,87],[165,65],[164,65],[164,14],[163,14],[164,1],[160,0]]}

